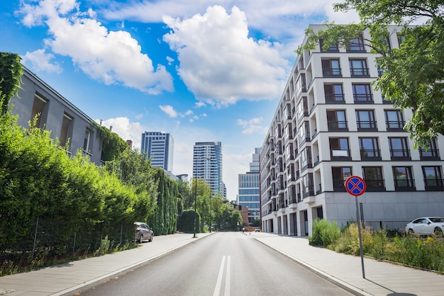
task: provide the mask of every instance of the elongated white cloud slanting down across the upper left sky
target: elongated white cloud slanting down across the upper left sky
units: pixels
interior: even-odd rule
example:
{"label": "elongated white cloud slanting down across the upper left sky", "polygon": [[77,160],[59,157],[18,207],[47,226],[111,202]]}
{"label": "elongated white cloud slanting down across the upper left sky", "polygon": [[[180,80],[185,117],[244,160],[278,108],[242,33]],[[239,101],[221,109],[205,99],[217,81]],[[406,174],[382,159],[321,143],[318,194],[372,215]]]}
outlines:
{"label": "elongated white cloud slanting down across the upper left sky", "polygon": [[26,25],[48,25],[45,44],[58,55],[72,58],[82,71],[105,84],[123,84],[147,93],[172,91],[172,76],[165,66],[153,66],[130,33],[109,31],[96,21],[94,11],[77,11],[74,0],[42,0],[21,9]]}

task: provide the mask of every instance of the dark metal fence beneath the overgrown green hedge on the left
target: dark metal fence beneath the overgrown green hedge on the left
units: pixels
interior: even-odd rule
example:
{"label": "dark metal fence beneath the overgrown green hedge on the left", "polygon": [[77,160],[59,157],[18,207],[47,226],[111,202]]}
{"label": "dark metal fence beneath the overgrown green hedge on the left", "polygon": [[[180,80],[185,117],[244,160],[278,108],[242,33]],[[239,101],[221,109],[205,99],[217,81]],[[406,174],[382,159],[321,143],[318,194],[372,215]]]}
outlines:
{"label": "dark metal fence beneath the overgrown green hedge on the left", "polygon": [[109,242],[109,248],[134,241],[132,223],[104,224],[72,223],[68,221],[35,220],[32,227],[16,222],[0,228],[0,263],[26,261],[50,256],[94,252]]}

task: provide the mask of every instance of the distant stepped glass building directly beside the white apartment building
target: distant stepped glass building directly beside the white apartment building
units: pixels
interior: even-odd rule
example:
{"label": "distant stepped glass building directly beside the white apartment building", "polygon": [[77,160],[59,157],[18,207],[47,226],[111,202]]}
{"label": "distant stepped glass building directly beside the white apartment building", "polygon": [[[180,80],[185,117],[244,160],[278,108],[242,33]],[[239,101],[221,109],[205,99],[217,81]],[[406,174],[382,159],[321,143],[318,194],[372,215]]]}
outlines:
{"label": "distant stepped glass building directly beside the white apartment building", "polygon": [[248,224],[260,226],[259,154],[255,148],[250,162],[250,171],[238,175],[238,205],[248,207]]}

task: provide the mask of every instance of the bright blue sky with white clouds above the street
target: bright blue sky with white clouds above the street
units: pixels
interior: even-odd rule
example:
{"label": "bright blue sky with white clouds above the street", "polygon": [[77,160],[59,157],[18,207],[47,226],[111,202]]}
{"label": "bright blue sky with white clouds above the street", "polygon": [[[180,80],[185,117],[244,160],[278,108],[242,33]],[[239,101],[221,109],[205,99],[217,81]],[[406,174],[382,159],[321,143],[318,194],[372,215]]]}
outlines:
{"label": "bright blue sky with white clouds above the street", "polygon": [[262,147],[310,24],[358,21],[340,0],[0,0],[0,52],[140,149],[174,139],[192,176],[196,142],[221,142],[228,200]]}

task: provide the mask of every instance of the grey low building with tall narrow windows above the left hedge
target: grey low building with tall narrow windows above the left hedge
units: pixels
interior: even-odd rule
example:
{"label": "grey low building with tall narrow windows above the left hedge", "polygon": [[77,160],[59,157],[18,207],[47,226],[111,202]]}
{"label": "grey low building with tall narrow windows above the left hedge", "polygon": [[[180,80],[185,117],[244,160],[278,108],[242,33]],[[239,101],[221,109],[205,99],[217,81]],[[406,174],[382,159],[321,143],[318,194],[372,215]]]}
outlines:
{"label": "grey low building with tall narrow windows above the left hedge", "polygon": [[94,164],[102,164],[101,138],[94,120],[24,66],[18,95],[11,98],[9,110],[18,115],[23,127],[35,120],[37,127],[50,130],[68,154],[80,152]]}

